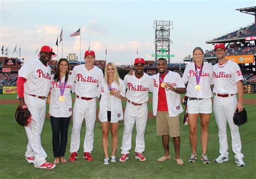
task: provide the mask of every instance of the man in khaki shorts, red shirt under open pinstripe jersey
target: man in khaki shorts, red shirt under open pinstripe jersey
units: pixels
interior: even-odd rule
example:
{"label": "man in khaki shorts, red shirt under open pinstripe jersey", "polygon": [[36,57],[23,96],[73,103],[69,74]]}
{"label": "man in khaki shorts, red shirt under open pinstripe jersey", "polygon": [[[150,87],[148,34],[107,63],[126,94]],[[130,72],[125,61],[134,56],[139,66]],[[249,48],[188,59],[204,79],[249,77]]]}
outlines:
{"label": "man in khaki shorts, red shirt under open pinstripe jersey", "polygon": [[159,162],[171,159],[169,154],[169,136],[173,139],[177,164],[183,164],[180,158],[179,114],[183,112],[180,95],[186,88],[178,73],[167,70],[167,62],[160,58],[157,61],[159,73],[153,78],[153,115],[157,116],[157,135],[162,136],[165,155]]}

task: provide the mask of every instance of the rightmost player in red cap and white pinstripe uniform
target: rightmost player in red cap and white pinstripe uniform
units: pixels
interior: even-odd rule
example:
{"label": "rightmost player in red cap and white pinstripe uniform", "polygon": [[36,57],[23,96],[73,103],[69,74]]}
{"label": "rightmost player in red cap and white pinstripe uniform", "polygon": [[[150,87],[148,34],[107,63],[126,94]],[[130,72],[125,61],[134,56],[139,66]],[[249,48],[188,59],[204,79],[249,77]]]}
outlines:
{"label": "rightmost player in red cap and white pinstripe uniform", "polygon": [[[242,73],[237,63],[225,58],[226,48],[224,44],[214,46],[218,63],[213,66],[213,111],[219,128],[220,156],[215,160],[217,163],[228,161],[228,145],[226,125],[230,126],[232,150],[235,153],[235,163],[245,166],[242,160],[241,139],[238,126],[234,124],[233,116],[238,108],[239,112],[244,108],[242,105]],[[238,94],[238,99],[237,99]]]}

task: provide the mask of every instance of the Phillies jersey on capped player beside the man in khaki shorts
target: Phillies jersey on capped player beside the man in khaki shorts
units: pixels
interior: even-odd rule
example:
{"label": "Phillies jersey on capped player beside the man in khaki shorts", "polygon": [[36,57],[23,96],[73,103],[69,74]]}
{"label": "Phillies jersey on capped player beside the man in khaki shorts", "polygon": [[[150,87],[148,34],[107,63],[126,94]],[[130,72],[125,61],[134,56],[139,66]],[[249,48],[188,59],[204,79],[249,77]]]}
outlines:
{"label": "Phillies jersey on capped player beside the man in khaki shorts", "polygon": [[124,84],[127,88],[125,97],[133,103],[145,103],[149,100],[149,91],[152,91],[153,79],[146,73],[141,78],[135,75],[125,75]]}

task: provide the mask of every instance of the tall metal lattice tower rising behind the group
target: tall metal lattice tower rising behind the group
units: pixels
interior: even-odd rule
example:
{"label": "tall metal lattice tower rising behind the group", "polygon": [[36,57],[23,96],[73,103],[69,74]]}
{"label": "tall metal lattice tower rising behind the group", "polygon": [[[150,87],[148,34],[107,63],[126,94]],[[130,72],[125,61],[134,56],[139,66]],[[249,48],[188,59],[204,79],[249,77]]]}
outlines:
{"label": "tall metal lattice tower rising behind the group", "polygon": [[173,44],[170,39],[170,30],[173,29],[172,21],[155,20],[153,28],[155,29],[155,62],[159,58],[165,58],[170,63],[170,44]]}

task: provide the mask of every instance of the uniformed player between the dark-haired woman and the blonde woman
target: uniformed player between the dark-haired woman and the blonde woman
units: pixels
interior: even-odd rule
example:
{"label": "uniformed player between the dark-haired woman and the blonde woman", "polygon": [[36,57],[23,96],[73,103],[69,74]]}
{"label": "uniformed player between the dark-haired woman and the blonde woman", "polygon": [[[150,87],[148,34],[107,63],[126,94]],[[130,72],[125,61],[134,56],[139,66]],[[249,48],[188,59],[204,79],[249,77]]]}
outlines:
{"label": "uniformed player between the dark-haired woman and the blonde woman", "polygon": [[73,110],[73,128],[71,133],[71,156],[69,161],[77,159],[80,146],[80,130],[85,119],[86,133],[84,138],[84,159],[92,161],[93,129],[96,119],[96,97],[98,96],[98,85],[103,80],[103,72],[94,66],[95,52],[85,51],[85,65],[78,65],[72,70],[75,80],[76,101]]}

